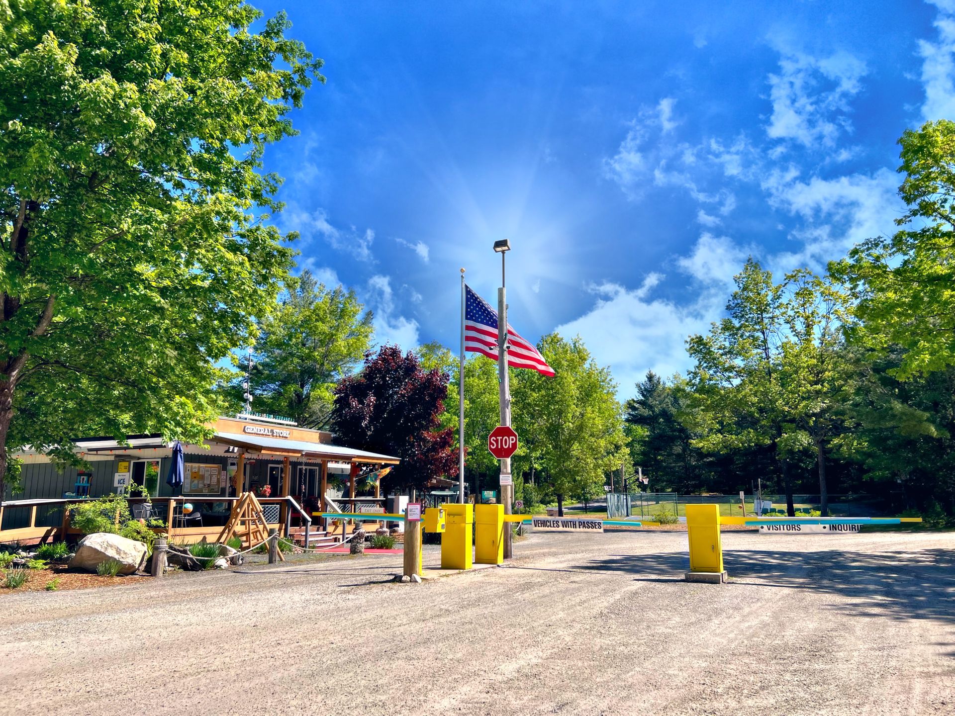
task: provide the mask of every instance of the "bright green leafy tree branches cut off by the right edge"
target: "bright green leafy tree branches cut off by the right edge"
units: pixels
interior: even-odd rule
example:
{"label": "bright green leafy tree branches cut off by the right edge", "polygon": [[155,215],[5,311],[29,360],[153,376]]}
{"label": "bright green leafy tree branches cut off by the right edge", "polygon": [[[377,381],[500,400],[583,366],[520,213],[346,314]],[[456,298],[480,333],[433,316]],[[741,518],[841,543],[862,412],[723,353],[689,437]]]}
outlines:
{"label": "bright green leafy tree branches cut off by the right edge", "polygon": [[859,302],[854,338],[883,354],[903,347],[893,370],[905,380],[955,365],[955,122],[926,122],[899,143],[902,229],[862,242],[832,270]]}

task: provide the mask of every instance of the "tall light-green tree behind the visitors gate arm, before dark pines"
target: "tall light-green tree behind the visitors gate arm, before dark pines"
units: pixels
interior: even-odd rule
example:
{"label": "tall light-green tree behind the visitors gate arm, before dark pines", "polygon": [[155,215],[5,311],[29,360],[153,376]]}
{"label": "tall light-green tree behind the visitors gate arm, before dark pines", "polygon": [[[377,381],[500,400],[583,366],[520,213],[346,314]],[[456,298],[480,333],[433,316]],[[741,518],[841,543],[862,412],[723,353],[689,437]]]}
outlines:
{"label": "tall light-green tree behind the visitors gate arm, before dark pines", "polygon": [[849,299],[830,277],[805,269],[775,284],[752,259],[736,277],[729,316],[692,336],[695,443],[728,453],[765,447],[784,475],[792,514],[791,465],[811,452],[821,512],[828,511],[827,451],[838,435],[851,363],[843,351]]}

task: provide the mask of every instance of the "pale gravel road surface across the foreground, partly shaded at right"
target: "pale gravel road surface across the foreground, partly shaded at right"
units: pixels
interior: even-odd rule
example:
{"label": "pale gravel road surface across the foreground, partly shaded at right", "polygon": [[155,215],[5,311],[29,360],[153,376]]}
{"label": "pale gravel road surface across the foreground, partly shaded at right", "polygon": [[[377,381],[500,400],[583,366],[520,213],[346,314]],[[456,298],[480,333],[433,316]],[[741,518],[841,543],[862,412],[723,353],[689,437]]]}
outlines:
{"label": "pale gravel road surface across the foreground, partly shaded at right", "polygon": [[[955,714],[955,534],[538,534],[0,596],[0,713]],[[439,561],[427,548],[425,563]]]}

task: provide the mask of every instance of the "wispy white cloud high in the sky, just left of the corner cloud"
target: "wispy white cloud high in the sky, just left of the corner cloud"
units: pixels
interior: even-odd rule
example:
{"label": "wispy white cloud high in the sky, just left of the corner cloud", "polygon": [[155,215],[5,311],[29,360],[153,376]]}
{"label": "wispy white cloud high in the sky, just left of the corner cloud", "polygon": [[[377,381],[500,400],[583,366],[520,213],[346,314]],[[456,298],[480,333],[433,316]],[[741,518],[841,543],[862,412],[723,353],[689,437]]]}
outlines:
{"label": "wispy white cloud high in the sky, just left of the corner cloud", "polygon": [[833,146],[840,133],[852,131],[848,100],[859,94],[865,74],[865,63],[849,53],[817,58],[783,52],[779,74],[769,75],[767,135],[806,147]]}

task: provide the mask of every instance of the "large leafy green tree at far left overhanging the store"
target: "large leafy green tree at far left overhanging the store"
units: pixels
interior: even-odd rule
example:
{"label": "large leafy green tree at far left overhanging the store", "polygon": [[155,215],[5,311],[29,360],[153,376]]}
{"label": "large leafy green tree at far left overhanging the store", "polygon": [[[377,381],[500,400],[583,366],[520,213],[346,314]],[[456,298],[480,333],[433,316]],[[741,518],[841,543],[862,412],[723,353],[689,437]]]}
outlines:
{"label": "large leafy green tree at far left overhanging the store", "polygon": [[241,0],[0,4],[0,498],[24,445],[199,439],[291,261],[265,145],[321,61]]}

